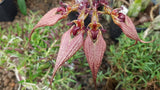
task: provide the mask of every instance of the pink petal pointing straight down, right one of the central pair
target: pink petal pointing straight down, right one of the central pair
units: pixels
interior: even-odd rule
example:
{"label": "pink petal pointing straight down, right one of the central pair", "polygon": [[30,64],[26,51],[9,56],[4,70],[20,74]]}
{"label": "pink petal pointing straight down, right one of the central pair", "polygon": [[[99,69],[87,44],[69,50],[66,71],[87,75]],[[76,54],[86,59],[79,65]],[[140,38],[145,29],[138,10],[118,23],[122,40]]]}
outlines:
{"label": "pink petal pointing straight down, right one of the central pair", "polygon": [[87,57],[90,69],[92,71],[95,86],[96,86],[97,72],[101,65],[105,50],[106,50],[106,43],[103,39],[101,32],[99,31],[97,40],[94,43],[92,41],[90,31],[88,31],[88,35],[84,42],[84,52]]}

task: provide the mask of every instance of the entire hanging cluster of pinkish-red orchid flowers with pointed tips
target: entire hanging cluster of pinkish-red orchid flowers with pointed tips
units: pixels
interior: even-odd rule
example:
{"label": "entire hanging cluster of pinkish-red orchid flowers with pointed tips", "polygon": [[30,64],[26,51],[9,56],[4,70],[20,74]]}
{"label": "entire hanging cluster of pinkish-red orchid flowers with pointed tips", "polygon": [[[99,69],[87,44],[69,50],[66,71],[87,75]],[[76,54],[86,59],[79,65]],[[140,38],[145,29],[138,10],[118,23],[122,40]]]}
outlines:
{"label": "entire hanging cluster of pinkish-red orchid flowers with pointed tips", "polygon": [[[31,38],[32,33],[38,27],[53,26],[59,20],[66,18],[71,12],[78,12],[78,18],[71,21],[71,28],[61,38],[50,85],[56,71],[62,64],[83,47],[96,86],[97,73],[106,50],[106,43],[102,36],[104,28],[99,22],[99,15],[101,14],[111,15],[115,24],[122,29],[127,37],[136,40],[136,43],[137,41],[148,43],[139,39],[134,24],[128,16],[119,12],[121,9],[112,10],[108,6],[108,0],[75,0],[71,4],[60,4],[61,7],[51,9],[41,18],[29,36]],[[98,10],[100,6],[103,7],[101,11]],[[88,16],[91,17],[91,22],[86,26],[84,23]],[[85,33],[87,34],[86,38],[84,37]]]}

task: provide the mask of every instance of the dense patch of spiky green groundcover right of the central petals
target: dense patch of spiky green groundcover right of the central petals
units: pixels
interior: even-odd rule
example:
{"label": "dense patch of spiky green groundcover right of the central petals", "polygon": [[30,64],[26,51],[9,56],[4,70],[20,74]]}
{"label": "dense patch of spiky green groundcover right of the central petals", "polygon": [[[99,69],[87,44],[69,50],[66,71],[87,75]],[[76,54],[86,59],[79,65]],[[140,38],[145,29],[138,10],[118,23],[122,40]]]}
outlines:
{"label": "dense patch of spiky green groundcover right of the central petals", "polygon": [[[142,35],[143,33],[140,34]],[[135,41],[122,35],[118,45],[110,46],[110,51],[107,51],[108,62],[111,65],[108,78],[118,81],[117,88],[126,90],[160,88],[160,35],[156,32],[151,38],[155,39],[153,43],[139,42],[128,48]],[[146,40],[149,41],[149,38]]]}

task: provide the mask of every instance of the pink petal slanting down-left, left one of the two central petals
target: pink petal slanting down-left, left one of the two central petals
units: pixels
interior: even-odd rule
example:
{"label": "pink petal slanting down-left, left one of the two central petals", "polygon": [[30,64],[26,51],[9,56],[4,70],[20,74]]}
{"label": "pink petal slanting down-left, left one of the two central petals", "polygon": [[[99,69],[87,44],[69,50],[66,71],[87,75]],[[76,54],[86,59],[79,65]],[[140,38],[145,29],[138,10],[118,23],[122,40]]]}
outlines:
{"label": "pink petal slanting down-left, left one of the two central petals", "polygon": [[61,45],[50,84],[52,83],[53,77],[55,76],[58,68],[62,66],[65,61],[71,58],[83,45],[83,32],[80,32],[77,36],[71,38],[72,28],[62,36]]}

